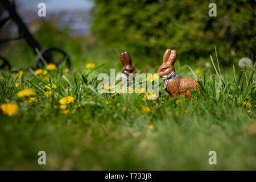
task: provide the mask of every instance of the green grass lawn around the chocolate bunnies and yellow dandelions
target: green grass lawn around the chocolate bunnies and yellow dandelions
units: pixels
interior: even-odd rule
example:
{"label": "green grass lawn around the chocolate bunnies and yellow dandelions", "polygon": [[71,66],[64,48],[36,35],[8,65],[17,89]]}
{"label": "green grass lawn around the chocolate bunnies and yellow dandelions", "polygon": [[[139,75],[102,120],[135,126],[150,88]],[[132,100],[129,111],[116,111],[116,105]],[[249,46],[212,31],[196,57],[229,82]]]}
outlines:
{"label": "green grass lawn around the chocolate bunnies and yellow dandelions", "polygon": [[[69,73],[63,73],[63,68],[48,72],[50,82],[57,85],[53,98],[44,96],[48,90],[44,85],[49,82],[32,71],[20,78],[15,72],[1,71],[0,103],[17,103],[19,112],[12,117],[0,113],[0,169],[256,169],[256,134],[248,130],[255,123],[254,69],[247,70],[244,88],[244,73],[237,68],[221,69],[215,56],[212,68],[201,67],[202,78],[179,61],[177,73],[198,77],[201,94],[193,93],[191,100],[173,99],[161,85],[156,103],[144,100],[143,94],[95,92],[98,73],[109,73],[109,68],[121,71],[114,50],[64,47],[73,68]],[[30,53],[22,51],[10,56],[25,63],[33,61]],[[92,69],[84,68],[89,62],[96,67],[107,64],[90,73]],[[143,67],[135,59],[134,65],[137,72],[154,73],[161,62]],[[189,66],[195,69],[198,64]],[[18,88],[15,82],[20,83]],[[38,102],[18,98],[16,93],[24,88],[34,88]],[[63,114],[54,105],[68,95],[75,101],[68,105],[71,114]],[[143,112],[142,106],[152,112]],[[40,150],[46,151],[45,166],[38,164]],[[217,152],[217,165],[208,163],[212,150]]]}

